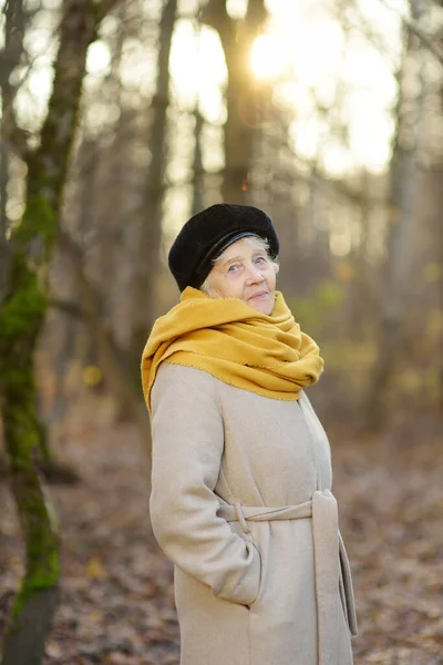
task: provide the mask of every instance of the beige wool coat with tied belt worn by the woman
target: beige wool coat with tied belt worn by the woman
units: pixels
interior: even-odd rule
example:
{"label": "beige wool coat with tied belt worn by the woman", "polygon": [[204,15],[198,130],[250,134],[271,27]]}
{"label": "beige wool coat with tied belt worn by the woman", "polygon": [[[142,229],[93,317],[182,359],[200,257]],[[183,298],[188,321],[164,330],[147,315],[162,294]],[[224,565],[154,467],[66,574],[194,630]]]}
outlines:
{"label": "beige wool coat with tied belt worn by the woman", "polygon": [[330,449],[307,396],[164,362],[152,412],[151,518],[175,563],[181,665],[350,665]]}

